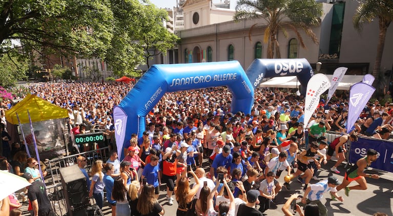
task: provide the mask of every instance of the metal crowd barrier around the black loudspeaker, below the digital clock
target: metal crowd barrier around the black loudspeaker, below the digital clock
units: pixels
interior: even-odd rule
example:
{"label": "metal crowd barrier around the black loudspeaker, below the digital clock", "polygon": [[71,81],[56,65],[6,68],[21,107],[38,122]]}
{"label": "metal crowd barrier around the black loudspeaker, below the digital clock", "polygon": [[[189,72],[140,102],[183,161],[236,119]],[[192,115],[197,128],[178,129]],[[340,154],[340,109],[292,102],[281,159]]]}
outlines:
{"label": "metal crowd barrier around the black loudspeaker, below the digital clock", "polygon": [[102,160],[105,163],[108,160],[108,149],[109,147],[104,147],[76,155],[46,160],[45,163],[48,165],[48,176],[45,179],[45,186],[48,198],[51,201],[56,215],[63,216],[65,213],[67,213],[67,205],[63,195],[63,185],[61,184],[59,168],[77,164],[76,158],[78,156],[84,156],[87,161],[87,166],[85,168],[89,172],[94,161]]}

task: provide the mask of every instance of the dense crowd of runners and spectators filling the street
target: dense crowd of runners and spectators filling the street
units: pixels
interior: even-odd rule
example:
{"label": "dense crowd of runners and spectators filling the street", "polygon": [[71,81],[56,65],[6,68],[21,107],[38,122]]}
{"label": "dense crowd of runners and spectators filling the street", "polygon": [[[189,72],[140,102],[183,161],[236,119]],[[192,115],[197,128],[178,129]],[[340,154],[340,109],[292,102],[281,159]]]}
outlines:
{"label": "dense crowd of runners and spectators filling the street", "polygon": [[[329,192],[333,200],[342,202],[341,189],[349,196],[350,190],[367,188],[366,178],[379,178],[365,172],[377,159],[377,152],[368,149],[366,157],[345,170],[342,181],[334,176],[319,179],[319,170],[339,174],[348,141],[356,141],[359,135],[388,139],[392,130],[393,103],[381,105],[376,100],[363,110],[355,132],[347,134],[345,92],[326,104],[321,99],[304,125],[304,98],[296,94],[258,89],[251,113],[244,114],[231,111],[232,95],[224,87],[191,90],[164,95],[148,114],[146,131],[139,138],[132,135],[129,145],[123,146],[120,158],[124,159],[119,161],[113,150],[112,110],[132,87],[126,83],[41,83],[29,87],[30,93],[68,109],[72,133],[86,133],[86,127],[104,131],[112,149],[109,160],[95,161],[90,173],[85,169],[86,158],[78,157],[77,162],[91,179],[90,196],[102,208],[105,189],[112,215],[117,216],[164,214],[164,207],[157,202],[161,183],[167,191],[163,205],[176,201],[177,215],[262,215],[283,188],[304,191],[294,207],[300,214],[326,215],[320,201],[323,193]],[[11,164],[2,169],[22,176],[29,164],[26,160],[34,159],[17,158],[6,128],[0,125],[0,129],[2,156],[6,157],[2,165]],[[326,131],[341,136],[328,142]],[[327,167],[332,156],[337,162]],[[190,185],[190,178],[194,185]],[[302,187],[296,188],[292,181],[299,181]],[[357,184],[348,187],[352,181]],[[292,215],[289,207],[298,196],[294,194],[284,204],[285,215]],[[300,206],[305,206],[304,212]]]}

